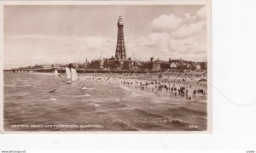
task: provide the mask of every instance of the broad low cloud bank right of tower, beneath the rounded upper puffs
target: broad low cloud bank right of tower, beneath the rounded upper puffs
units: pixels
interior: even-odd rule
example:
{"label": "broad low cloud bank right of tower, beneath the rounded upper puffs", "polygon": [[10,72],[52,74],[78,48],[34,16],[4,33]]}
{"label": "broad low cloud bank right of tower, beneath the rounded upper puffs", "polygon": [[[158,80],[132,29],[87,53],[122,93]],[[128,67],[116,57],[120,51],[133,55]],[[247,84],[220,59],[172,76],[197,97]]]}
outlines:
{"label": "broad low cloud bank right of tower, beneath the rounded upper puffs", "polygon": [[146,60],[155,57],[204,61],[207,57],[207,43],[202,35],[177,39],[166,32],[151,33],[139,38],[137,50],[140,53],[137,57]]}

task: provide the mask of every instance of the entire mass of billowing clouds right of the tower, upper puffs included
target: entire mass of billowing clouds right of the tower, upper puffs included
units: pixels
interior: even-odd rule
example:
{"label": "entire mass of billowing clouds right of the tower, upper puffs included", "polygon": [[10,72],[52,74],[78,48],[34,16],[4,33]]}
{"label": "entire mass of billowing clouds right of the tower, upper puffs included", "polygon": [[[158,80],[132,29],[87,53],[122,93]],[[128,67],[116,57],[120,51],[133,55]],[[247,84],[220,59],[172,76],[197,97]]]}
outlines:
{"label": "entire mass of billowing clouds right of the tower, upper puffs included", "polygon": [[139,37],[137,48],[142,59],[154,56],[160,59],[207,59],[206,8],[195,14],[186,13],[183,18],[174,14],[162,14],[151,21],[152,31],[148,36]]}

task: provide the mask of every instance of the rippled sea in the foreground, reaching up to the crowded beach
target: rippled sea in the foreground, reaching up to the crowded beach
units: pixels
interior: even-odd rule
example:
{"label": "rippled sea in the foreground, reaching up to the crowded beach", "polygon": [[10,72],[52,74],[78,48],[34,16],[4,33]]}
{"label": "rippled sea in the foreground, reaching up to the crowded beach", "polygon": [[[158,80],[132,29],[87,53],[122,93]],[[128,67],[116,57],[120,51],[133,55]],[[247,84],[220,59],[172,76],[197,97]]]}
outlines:
{"label": "rippled sea in the foreground, reaching up to the crowded beach", "polygon": [[[137,94],[44,73],[3,74],[5,131],[206,131],[207,96]],[[95,88],[82,90],[82,86]],[[49,91],[56,90],[55,93]]]}

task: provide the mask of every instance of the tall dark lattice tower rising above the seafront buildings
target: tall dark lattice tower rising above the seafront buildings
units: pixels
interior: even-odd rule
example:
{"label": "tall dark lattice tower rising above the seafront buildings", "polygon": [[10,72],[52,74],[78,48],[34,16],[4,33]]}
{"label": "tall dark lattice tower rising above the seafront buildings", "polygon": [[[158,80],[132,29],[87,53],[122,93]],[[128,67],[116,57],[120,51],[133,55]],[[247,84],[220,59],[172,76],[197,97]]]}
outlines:
{"label": "tall dark lattice tower rising above the seafront buildings", "polygon": [[118,26],[118,37],[117,37],[117,44],[116,44],[116,50],[115,50],[115,58],[126,59],[125,40],[124,40],[124,31],[123,31],[124,22],[120,15],[119,15],[117,26]]}

